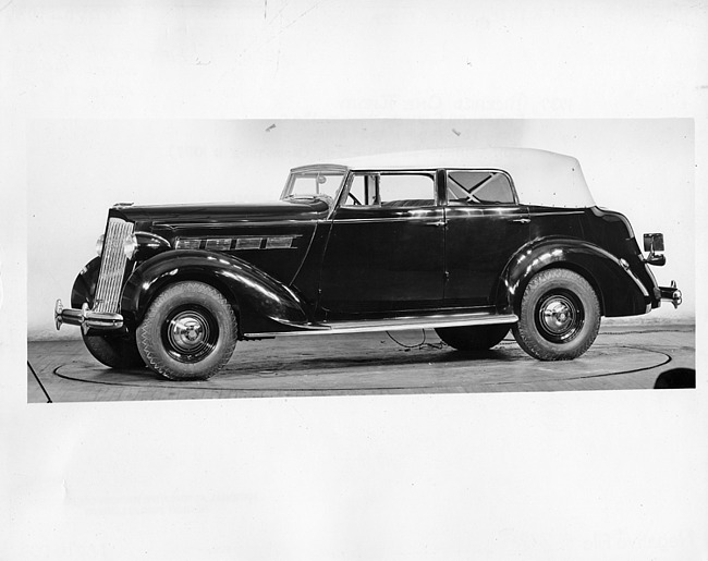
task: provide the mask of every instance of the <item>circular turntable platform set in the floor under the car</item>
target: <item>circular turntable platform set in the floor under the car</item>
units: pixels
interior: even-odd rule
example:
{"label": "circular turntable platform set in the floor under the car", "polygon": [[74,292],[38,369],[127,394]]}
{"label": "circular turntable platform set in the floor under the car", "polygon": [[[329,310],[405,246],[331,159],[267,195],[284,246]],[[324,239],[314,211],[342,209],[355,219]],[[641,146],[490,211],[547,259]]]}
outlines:
{"label": "circular turntable platform set in the floor under the car", "polygon": [[[282,338],[241,342],[227,367],[209,380],[173,381],[151,370],[114,370],[81,357],[54,368],[70,380],[170,389],[235,392],[236,395],[317,395],[354,393],[499,392],[651,387],[656,375],[642,373],[664,365],[671,356],[631,345],[596,344],[574,361],[540,362],[506,339],[491,351],[469,354],[419,342],[419,332],[355,339]],[[599,383],[601,381],[601,383]]]}

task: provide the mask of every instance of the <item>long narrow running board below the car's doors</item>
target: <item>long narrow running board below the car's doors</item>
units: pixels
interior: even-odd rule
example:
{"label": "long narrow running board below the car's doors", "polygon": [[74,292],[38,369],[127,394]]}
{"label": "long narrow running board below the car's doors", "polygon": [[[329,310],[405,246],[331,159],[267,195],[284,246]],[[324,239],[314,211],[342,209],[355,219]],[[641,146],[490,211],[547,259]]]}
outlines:
{"label": "long narrow running board below the car's doors", "polygon": [[437,316],[408,316],[388,319],[369,319],[367,321],[337,321],[332,324],[312,324],[298,326],[296,331],[278,331],[270,333],[244,333],[245,339],[265,339],[284,336],[317,336],[317,334],[344,334],[367,333],[375,331],[403,331],[406,329],[435,329],[440,327],[463,326],[495,326],[498,324],[515,324],[518,317],[515,314],[489,314],[478,312],[474,314],[437,315]]}

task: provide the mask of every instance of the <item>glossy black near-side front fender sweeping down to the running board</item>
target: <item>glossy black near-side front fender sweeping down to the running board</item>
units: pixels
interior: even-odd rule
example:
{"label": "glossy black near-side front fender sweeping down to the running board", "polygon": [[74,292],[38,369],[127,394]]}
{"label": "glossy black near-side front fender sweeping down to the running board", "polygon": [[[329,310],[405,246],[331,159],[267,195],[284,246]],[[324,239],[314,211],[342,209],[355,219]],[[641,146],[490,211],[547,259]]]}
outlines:
{"label": "glossy black near-side front fender sweeping down to the running board", "polygon": [[141,264],[123,290],[121,310],[127,321],[142,321],[149,303],[168,284],[196,280],[221,290],[237,308],[241,328],[271,320],[284,326],[308,321],[306,305],[288,286],[253,265],[235,257],[206,251],[163,252]]}

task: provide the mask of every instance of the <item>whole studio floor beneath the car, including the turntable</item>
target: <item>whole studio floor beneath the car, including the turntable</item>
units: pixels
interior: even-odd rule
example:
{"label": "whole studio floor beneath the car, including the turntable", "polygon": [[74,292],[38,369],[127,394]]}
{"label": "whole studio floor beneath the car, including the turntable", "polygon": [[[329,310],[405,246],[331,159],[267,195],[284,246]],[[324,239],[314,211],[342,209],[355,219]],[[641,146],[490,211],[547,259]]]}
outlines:
{"label": "whole studio floor beneath the car, including the turntable", "polygon": [[585,355],[553,363],[526,355],[511,333],[478,354],[422,330],[283,337],[240,342],[220,374],[183,382],[107,368],[82,341],[27,344],[29,403],[687,387],[695,387],[695,326],[685,322],[603,325]]}

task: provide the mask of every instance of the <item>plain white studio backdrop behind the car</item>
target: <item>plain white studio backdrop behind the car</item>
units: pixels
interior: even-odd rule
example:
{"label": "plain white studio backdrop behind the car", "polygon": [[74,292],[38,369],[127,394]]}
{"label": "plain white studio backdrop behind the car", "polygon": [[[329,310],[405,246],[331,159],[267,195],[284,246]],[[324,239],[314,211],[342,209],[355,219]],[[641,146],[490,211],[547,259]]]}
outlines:
{"label": "plain white studio backdrop behind the car", "polygon": [[117,202],[258,202],[280,195],[292,167],[338,157],[428,148],[524,146],[579,159],[599,206],[643,232],[663,232],[660,283],[684,291],[638,319],[694,314],[692,120],[44,120],[28,136],[28,332],[57,332],[56,298],[69,301]]}

